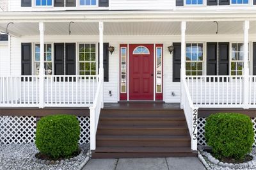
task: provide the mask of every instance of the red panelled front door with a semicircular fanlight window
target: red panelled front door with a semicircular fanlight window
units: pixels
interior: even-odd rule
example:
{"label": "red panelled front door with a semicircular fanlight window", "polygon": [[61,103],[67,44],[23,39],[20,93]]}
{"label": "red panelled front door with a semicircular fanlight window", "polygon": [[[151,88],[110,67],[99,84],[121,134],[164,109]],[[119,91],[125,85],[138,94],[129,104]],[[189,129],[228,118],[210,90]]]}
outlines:
{"label": "red panelled front door with a semicircular fanlight window", "polygon": [[129,45],[129,100],[154,100],[154,45]]}

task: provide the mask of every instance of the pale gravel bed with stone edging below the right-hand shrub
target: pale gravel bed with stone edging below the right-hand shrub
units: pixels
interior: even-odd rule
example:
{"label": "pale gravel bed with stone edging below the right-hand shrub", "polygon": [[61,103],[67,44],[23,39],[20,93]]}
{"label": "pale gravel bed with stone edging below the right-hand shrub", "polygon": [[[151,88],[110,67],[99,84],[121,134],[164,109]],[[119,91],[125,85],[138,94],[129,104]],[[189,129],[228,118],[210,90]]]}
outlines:
{"label": "pale gravel bed with stone edging below the right-hand shrub", "polygon": [[253,160],[250,160],[249,162],[244,162],[242,164],[227,164],[225,162],[220,162],[220,160],[212,157],[210,153],[207,153],[206,151],[200,150],[200,148],[198,148],[198,158],[208,170],[256,169],[256,148],[252,149],[252,153],[250,153],[250,155],[253,157]]}

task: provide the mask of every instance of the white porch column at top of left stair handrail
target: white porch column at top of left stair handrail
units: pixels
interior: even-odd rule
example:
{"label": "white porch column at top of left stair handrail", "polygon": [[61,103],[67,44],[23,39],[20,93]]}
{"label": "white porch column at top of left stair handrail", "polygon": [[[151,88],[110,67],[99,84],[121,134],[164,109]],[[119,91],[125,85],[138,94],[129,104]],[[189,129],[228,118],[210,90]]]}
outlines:
{"label": "white porch column at top of left stair handrail", "polygon": [[[100,79],[104,79],[104,68],[103,68],[103,61],[104,61],[104,58],[103,58],[103,31],[104,31],[104,24],[103,22],[99,22],[99,42],[100,42],[100,45],[99,45],[99,48],[100,48],[100,68],[99,68],[99,76],[100,76]],[[104,83],[103,83],[104,85]],[[103,93],[104,93],[104,86],[102,85],[102,94],[100,94],[101,98],[102,98],[102,105],[101,105],[101,108],[104,107],[104,97],[103,97]]]}

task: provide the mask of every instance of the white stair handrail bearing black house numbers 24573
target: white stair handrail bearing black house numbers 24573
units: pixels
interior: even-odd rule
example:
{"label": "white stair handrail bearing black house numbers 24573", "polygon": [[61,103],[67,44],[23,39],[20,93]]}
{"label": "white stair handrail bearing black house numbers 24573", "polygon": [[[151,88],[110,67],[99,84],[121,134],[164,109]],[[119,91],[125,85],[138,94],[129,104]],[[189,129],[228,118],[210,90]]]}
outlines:
{"label": "white stair handrail bearing black house numbers 24573", "polygon": [[182,102],[184,114],[186,117],[186,122],[189,129],[189,134],[191,137],[191,149],[197,150],[197,117],[198,117],[198,107],[192,102],[191,95],[189,93],[188,85],[186,83],[186,78],[181,81],[182,94],[184,95],[184,101]]}

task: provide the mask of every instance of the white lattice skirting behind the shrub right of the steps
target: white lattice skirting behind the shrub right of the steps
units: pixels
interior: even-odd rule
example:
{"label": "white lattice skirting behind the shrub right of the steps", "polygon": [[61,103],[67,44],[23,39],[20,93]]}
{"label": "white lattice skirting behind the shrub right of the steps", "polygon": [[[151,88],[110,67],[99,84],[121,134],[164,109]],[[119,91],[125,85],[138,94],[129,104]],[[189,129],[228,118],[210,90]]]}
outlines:
{"label": "white lattice skirting behind the shrub right of the steps", "polygon": [[[205,121],[206,121],[206,118],[198,118],[197,143],[202,146],[207,145],[204,137]],[[256,118],[252,118],[252,123],[253,123],[253,130],[255,134],[253,147],[256,147]]]}

